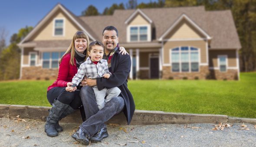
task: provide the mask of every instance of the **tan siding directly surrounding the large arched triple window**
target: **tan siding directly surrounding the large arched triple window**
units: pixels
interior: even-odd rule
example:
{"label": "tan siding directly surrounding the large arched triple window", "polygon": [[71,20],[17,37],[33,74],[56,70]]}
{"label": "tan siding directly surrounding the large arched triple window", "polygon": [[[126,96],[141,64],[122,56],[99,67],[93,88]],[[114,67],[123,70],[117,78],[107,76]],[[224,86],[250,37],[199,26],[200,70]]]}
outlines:
{"label": "tan siding directly surrounding the large arched triple window", "polygon": [[168,41],[164,43],[164,64],[170,64],[170,49],[179,46],[193,46],[200,49],[200,63],[207,63],[207,50],[206,50],[206,42],[203,40],[195,40],[195,41]]}

